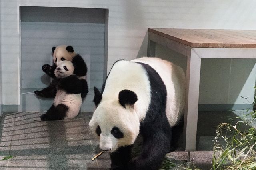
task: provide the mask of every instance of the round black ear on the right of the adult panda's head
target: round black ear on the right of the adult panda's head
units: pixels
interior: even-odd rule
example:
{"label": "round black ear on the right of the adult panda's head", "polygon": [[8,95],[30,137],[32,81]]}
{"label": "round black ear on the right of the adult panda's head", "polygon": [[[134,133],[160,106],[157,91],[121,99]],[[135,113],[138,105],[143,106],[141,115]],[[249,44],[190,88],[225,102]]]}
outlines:
{"label": "round black ear on the right of the adult panda's head", "polygon": [[118,99],[120,104],[124,108],[126,104],[133,106],[134,103],[138,100],[137,95],[133,91],[127,89],[124,89],[121,92],[119,92]]}

